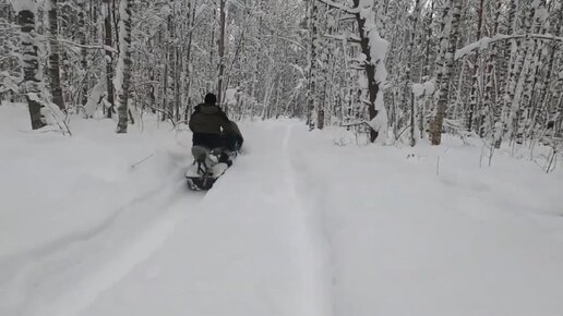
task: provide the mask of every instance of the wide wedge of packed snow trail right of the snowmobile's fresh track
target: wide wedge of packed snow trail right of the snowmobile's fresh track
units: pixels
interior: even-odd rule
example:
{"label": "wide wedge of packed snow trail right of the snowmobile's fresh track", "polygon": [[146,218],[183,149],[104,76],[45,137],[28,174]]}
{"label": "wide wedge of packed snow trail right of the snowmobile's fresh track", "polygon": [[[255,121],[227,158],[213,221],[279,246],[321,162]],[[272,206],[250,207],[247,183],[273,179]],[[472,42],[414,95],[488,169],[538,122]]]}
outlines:
{"label": "wide wedge of packed snow trail right of the snowmobile's fresh track", "polygon": [[323,247],[291,183],[291,134],[306,133],[294,125],[248,127],[245,153],[166,245],[81,315],[332,315]]}

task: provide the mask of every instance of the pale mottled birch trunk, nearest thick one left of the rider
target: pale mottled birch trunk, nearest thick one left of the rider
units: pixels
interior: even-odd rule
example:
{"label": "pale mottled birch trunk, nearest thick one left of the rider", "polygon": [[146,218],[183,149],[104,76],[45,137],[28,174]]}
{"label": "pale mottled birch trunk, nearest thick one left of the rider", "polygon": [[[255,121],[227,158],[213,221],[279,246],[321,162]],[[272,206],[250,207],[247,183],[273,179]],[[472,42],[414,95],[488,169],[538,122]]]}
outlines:
{"label": "pale mottled birch trunk, nearest thick one left of the rider", "polygon": [[128,125],[128,104],[131,84],[131,7],[134,0],[121,0],[120,12],[125,13],[120,16],[119,23],[119,62],[118,62],[118,80],[116,88],[118,90],[118,133],[127,133]]}

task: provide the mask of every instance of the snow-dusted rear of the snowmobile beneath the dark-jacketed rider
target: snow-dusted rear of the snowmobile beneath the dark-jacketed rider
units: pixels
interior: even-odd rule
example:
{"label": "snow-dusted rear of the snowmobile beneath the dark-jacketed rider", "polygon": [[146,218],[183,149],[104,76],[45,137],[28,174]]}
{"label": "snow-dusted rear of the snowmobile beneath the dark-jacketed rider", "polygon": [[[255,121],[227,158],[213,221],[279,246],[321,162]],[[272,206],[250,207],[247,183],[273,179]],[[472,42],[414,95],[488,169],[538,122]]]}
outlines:
{"label": "snow-dusted rear of the snowmobile beneath the dark-jacketed rider", "polygon": [[192,155],[193,163],[185,172],[188,187],[193,191],[207,191],[227,171],[237,157],[237,151],[193,146]]}

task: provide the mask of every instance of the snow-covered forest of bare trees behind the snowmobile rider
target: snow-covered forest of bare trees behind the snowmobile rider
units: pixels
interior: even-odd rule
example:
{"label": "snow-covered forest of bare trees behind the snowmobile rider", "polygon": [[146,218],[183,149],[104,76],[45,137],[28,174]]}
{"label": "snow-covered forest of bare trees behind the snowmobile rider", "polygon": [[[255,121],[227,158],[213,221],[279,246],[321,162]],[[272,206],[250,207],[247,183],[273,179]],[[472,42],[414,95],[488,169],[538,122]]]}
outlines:
{"label": "snow-covered forest of bare trees behind the snowmobile rider", "polygon": [[296,117],[370,142],[561,144],[563,0],[0,0],[0,96],[184,124]]}

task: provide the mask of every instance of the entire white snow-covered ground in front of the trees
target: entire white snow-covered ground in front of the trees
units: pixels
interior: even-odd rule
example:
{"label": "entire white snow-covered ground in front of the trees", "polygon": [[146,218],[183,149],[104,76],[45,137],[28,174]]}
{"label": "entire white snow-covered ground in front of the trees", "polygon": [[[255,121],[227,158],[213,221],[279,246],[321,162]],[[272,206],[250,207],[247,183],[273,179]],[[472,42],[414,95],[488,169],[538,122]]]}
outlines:
{"label": "entire white snow-covered ground in front of the trees", "polygon": [[24,106],[0,106],[2,316],[563,311],[561,167],[245,122],[243,155],[202,193],[188,132],[70,127],[31,132]]}

